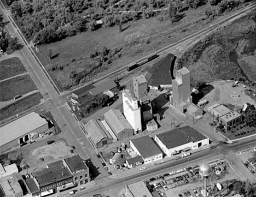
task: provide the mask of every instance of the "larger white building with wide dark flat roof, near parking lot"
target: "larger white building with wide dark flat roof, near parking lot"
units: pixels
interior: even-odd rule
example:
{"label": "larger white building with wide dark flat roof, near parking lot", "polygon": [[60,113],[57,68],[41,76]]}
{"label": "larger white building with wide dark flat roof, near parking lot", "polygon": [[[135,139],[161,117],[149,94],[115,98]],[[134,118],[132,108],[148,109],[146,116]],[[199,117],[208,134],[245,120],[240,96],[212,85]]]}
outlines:
{"label": "larger white building with wide dark flat roof, near parking lot", "polygon": [[154,139],[167,157],[210,144],[206,136],[189,126],[155,135]]}

